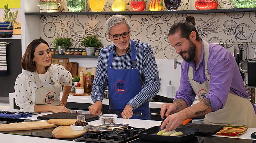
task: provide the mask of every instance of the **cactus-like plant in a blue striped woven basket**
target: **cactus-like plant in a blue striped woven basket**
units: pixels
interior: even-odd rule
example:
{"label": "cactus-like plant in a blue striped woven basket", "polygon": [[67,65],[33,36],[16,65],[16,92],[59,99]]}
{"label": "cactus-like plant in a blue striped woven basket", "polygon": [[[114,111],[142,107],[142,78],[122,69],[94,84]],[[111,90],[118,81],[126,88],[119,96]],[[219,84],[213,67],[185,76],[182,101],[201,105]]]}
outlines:
{"label": "cactus-like plant in a blue striped woven basket", "polygon": [[8,38],[12,37],[13,35],[13,23],[19,24],[16,21],[19,11],[16,10],[15,13],[11,12],[8,9],[8,4],[4,6],[4,22],[0,21],[0,37],[1,38]]}

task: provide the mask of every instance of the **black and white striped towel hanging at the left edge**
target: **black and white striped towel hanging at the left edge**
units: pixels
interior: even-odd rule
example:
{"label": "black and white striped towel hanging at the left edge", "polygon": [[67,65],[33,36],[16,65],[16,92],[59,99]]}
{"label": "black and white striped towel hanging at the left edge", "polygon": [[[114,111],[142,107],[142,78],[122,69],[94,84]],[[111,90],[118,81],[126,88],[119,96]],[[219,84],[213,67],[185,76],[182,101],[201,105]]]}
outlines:
{"label": "black and white striped towel hanging at the left edge", "polygon": [[0,76],[7,75],[6,43],[0,42]]}

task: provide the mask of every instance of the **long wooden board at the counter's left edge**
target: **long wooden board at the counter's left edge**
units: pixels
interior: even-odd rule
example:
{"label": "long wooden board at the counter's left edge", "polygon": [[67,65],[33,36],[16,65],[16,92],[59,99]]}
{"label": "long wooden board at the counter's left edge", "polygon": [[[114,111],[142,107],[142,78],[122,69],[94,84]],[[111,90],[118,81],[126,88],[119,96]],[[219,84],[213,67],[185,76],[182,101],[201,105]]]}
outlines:
{"label": "long wooden board at the counter's left edge", "polygon": [[10,123],[1,124],[0,131],[13,131],[13,130],[32,130],[32,129],[45,129],[58,127],[55,124],[49,124],[47,121],[38,122],[20,122],[20,123]]}

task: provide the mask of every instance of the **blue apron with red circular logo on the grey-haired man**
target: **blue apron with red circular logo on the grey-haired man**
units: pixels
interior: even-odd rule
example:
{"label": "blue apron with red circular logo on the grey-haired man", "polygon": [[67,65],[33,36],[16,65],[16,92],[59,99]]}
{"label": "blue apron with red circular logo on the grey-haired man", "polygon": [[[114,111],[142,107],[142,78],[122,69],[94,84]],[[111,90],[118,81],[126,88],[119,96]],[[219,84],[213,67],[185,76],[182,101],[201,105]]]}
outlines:
{"label": "blue apron with red circular logo on the grey-haired man", "polygon": [[[114,48],[113,48],[114,49]],[[109,84],[109,113],[117,114],[122,118],[121,113],[125,105],[135,97],[142,89],[139,70],[136,68],[135,45],[131,40],[131,69],[111,68],[114,55],[111,50],[108,63],[108,84]],[[151,120],[149,101],[141,107],[133,110],[131,119]]]}

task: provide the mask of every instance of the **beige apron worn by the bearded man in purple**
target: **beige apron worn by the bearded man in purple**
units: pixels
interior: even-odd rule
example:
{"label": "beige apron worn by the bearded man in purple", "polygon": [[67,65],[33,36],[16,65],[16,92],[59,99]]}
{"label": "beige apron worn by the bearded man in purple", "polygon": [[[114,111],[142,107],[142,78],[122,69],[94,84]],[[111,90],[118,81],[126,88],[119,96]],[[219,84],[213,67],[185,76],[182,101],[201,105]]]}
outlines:
{"label": "beige apron worn by the bearded man in purple", "polygon": [[[209,44],[204,40],[203,43],[205,75],[207,80],[202,84],[197,83],[195,80],[193,80],[193,68],[190,66],[188,70],[189,83],[200,100],[209,94],[210,89],[210,75],[208,74],[207,68]],[[249,99],[239,97],[238,95],[234,95],[229,92],[224,108],[206,114],[204,123],[214,125],[247,125],[249,128],[256,128],[256,115]]]}

